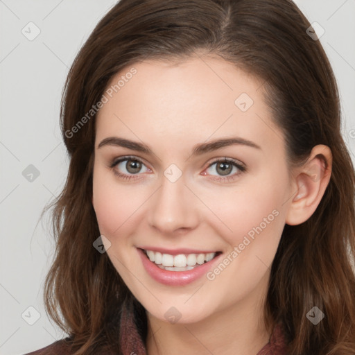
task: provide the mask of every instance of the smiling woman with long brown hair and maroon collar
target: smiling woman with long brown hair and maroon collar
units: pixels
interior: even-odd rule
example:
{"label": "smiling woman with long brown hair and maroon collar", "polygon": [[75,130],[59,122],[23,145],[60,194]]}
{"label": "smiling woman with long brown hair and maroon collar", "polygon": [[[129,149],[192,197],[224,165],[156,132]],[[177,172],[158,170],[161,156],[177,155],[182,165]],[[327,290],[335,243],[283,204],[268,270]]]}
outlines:
{"label": "smiling woman with long brown hair and maroon collar", "polygon": [[288,0],[121,0],[62,101],[31,354],[355,354],[354,166]]}

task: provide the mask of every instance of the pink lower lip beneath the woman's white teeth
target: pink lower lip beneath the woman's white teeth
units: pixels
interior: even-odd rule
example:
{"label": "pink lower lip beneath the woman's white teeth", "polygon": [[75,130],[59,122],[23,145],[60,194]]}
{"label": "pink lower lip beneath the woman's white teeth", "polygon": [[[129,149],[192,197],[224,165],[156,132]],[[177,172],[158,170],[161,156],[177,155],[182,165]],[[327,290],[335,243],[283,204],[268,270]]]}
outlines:
{"label": "pink lower lip beneath the woman's white teeth", "polygon": [[148,272],[148,274],[155,279],[155,281],[160,282],[161,284],[169,285],[169,286],[184,286],[190,284],[191,282],[200,279],[203,275],[206,275],[209,270],[211,270],[212,266],[216,261],[220,258],[219,254],[214,259],[208,261],[207,263],[203,263],[202,265],[196,266],[191,270],[186,271],[168,271],[159,268],[156,263],[150,261],[146,256],[146,253],[137,248],[139,256],[141,257],[141,261],[143,263],[144,268]]}

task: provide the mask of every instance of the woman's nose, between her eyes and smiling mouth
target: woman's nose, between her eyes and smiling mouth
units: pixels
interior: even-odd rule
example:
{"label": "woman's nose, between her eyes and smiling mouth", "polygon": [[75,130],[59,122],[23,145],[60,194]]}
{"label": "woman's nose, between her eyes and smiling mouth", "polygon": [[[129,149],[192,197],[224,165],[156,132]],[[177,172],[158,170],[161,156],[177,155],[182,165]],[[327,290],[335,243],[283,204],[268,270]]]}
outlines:
{"label": "woman's nose, between her eyes and smiling mouth", "polygon": [[171,182],[163,175],[162,185],[150,198],[148,223],[165,236],[186,233],[199,223],[198,203],[182,177]]}

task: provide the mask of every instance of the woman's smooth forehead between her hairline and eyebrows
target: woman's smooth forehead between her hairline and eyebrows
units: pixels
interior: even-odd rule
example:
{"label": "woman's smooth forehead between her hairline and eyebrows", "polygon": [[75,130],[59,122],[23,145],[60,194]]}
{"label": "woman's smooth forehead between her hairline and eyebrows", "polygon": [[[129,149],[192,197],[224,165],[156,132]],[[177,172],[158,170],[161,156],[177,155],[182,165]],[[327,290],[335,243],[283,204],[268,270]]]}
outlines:
{"label": "woman's smooth forehead between her hairline and eyebrows", "polygon": [[113,135],[175,147],[182,138],[192,146],[226,135],[275,141],[261,81],[222,59],[139,62],[117,73],[110,88],[96,117],[96,141]]}

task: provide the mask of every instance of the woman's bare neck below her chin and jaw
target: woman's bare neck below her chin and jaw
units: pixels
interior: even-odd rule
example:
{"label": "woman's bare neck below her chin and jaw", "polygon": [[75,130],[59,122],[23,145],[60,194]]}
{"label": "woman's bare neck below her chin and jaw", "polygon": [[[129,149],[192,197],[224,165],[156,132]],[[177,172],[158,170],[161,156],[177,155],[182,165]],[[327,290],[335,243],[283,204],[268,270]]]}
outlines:
{"label": "woman's bare neck below her chin and jaw", "polygon": [[263,323],[266,293],[257,291],[195,323],[171,324],[147,313],[147,354],[257,354],[270,339]]}

